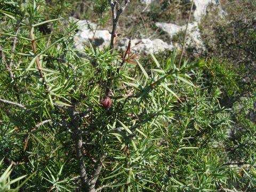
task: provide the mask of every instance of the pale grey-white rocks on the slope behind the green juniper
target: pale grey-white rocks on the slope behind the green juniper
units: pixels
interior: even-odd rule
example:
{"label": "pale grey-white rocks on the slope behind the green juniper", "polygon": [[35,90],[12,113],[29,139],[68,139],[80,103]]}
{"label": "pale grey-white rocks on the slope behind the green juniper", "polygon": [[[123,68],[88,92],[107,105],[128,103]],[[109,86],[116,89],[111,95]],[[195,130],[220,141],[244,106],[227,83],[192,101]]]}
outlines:
{"label": "pale grey-white rocks on the slope behind the green juniper", "polygon": [[[150,5],[154,0],[140,0],[141,3],[145,4],[146,7]],[[188,2],[191,0],[188,0]],[[187,37],[185,41],[185,48],[194,51],[194,53],[202,53],[205,51],[205,46],[201,38],[201,34],[198,28],[198,22],[200,22],[203,15],[207,13],[209,5],[214,5],[215,8],[220,9],[220,13],[223,15],[221,9],[220,0],[195,0],[195,10],[194,10],[194,19],[195,22],[191,22],[188,25]],[[146,8],[145,8],[146,9]],[[222,12],[221,12],[222,11]],[[99,47],[100,49],[106,48],[110,44],[111,35],[108,30],[98,30],[95,23],[82,20],[78,21],[77,19],[71,18],[72,20],[77,21],[78,32],[74,37],[75,46],[78,50],[83,50],[84,46],[92,44],[94,47]],[[184,35],[186,30],[186,25],[179,26],[173,23],[163,23],[157,22],[156,26],[165,31],[169,35],[169,41],[164,42],[162,39],[132,39],[132,46],[139,44],[135,47],[137,52],[163,52],[166,50],[173,50],[173,37],[176,35]],[[118,38],[116,42],[116,49],[126,50],[129,39],[127,38]],[[176,44],[175,47],[178,49],[181,48],[181,44]]]}

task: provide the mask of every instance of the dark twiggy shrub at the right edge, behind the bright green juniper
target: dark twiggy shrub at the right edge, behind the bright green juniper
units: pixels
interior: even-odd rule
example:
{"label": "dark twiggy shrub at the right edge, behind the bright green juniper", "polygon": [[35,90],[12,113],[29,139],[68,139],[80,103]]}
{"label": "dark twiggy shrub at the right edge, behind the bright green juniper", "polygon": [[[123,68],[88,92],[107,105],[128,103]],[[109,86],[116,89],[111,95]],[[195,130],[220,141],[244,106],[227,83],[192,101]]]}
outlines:
{"label": "dark twiggy shrub at the right edge, behind the bright green juniper", "polygon": [[255,22],[255,15],[251,15],[216,26],[213,29],[216,42],[208,47],[209,51],[238,65],[246,63],[248,67],[253,67],[255,63],[251,62],[256,50]]}

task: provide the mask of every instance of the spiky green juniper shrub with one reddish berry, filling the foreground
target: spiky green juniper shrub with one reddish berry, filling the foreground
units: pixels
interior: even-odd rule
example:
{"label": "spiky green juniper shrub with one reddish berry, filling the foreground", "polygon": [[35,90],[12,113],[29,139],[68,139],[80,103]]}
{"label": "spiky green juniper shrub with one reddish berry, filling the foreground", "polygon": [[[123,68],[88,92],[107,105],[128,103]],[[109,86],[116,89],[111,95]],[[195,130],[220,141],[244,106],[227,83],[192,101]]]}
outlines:
{"label": "spiky green juniper shrub with one reddish berry, filling the foreground", "polygon": [[[229,140],[221,87],[205,83],[214,74],[209,63],[178,68],[175,52],[131,62],[130,50],[121,57],[113,42],[78,51],[76,23],[65,19],[65,4],[49,18],[51,3],[0,3],[1,189],[253,190],[255,148],[245,152],[255,145],[255,125],[245,121],[250,107],[241,113],[253,134],[240,137],[239,149]],[[109,3],[116,25],[129,1]],[[244,150],[242,166],[234,150]]]}

